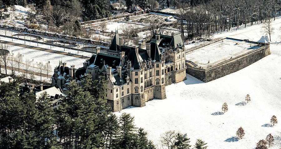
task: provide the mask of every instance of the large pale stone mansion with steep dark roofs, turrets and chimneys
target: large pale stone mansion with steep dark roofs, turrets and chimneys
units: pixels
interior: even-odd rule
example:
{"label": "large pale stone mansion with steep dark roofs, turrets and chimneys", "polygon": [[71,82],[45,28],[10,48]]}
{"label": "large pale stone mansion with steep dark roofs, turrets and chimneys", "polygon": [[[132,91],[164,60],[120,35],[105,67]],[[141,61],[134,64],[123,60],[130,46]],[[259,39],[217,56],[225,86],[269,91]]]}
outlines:
{"label": "large pale stone mansion with steep dark roofs, turrets and chimneys", "polygon": [[105,76],[107,103],[112,111],[135,106],[143,107],[151,99],[165,99],[165,86],[185,80],[185,48],[179,33],[157,34],[141,40],[138,47],[124,45],[118,31],[105,53],[96,48],[96,55],[83,63],[84,67],[67,67],[60,62],[52,76],[52,86],[67,86],[75,80],[84,85],[84,75],[92,79]]}

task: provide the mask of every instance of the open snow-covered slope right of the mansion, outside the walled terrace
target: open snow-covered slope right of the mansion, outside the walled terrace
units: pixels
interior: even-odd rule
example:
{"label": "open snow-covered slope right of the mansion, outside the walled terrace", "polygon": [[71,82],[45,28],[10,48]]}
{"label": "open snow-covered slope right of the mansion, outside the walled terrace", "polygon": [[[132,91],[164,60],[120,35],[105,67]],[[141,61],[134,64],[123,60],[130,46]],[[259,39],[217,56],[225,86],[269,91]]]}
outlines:
{"label": "open snow-covered slope right of the mansion, outside the walled terrace", "polygon": [[[281,147],[281,124],[270,126],[270,118],[281,118],[281,43],[278,28],[281,18],[272,22],[271,55],[225,77],[203,83],[187,75],[187,80],[166,87],[164,100],[146,102],[145,107],[130,107],[120,112],[131,113],[136,127],[148,132],[148,137],[160,145],[160,135],[169,130],[187,133],[190,144],[196,139],[207,142],[208,149],[253,149],[260,139],[271,133],[274,146]],[[233,37],[258,41],[264,35],[262,24],[247,26],[234,32],[223,32],[217,37]],[[251,102],[244,104],[249,94]],[[229,111],[222,114],[223,103]],[[242,106],[244,105],[244,106]],[[218,115],[221,114],[221,115]],[[245,130],[243,139],[236,138],[239,127]]]}

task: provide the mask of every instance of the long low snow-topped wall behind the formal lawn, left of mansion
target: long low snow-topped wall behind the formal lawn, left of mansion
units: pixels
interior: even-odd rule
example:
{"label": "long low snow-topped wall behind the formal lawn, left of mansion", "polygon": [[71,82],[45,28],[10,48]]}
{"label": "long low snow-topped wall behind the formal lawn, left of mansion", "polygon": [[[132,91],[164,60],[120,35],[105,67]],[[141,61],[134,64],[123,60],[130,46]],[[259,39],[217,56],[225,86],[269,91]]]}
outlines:
{"label": "long low snow-topped wall behind the formal lawn, left of mansion", "polygon": [[13,30],[15,32],[26,32],[26,33],[30,33],[30,34],[45,36],[45,37],[47,36],[47,37],[62,38],[62,39],[71,40],[71,41],[75,41],[75,42],[84,42],[84,43],[89,43],[89,44],[93,44],[93,45],[97,45],[97,46],[109,47],[108,42],[97,41],[97,40],[92,40],[92,39],[85,39],[85,38],[80,38],[80,37],[73,37],[73,36],[62,35],[62,34],[58,34],[58,33],[46,32],[46,31],[39,31],[37,29],[16,27],[16,26],[5,25],[5,24],[0,24],[0,28],[7,29],[7,30]]}

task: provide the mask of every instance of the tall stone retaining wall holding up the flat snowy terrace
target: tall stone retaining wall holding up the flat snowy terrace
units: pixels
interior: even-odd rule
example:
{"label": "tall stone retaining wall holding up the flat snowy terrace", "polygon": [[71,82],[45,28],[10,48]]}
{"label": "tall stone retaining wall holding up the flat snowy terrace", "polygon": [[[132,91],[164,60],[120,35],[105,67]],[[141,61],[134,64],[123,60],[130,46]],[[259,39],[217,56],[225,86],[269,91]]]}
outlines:
{"label": "tall stone retaining wall holding up the flat snowy terrace", "polygon": [[238,57],[221,62],[206,70],[196,67],[187,67],[186,73],[203,82],[210,82],[233,72],[237,72],[270,54],[269,46],[263,46]]}

